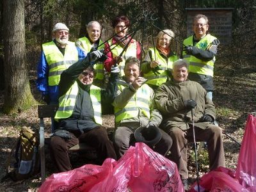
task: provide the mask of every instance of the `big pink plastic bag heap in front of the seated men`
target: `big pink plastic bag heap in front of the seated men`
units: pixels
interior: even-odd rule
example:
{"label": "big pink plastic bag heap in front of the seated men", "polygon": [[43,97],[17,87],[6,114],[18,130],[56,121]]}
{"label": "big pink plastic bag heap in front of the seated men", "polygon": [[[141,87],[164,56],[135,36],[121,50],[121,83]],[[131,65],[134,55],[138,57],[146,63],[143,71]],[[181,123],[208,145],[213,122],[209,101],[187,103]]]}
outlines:
{"label": "big pink plastic bag heap in front of the seated men", "polygon": [[117,162],[106,159],[102,166],[86,164],[53,174],[39,191],[184,191],[175,163],[136,143]]}

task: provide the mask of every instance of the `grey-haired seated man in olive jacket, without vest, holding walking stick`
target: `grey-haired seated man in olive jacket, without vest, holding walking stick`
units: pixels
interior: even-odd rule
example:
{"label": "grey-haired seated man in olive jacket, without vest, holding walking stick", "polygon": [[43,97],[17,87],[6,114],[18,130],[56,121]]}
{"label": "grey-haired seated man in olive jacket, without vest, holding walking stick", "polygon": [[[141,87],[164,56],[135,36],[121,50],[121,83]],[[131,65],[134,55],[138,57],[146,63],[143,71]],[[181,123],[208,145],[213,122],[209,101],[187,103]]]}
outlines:
{"label": "grey-haired seated man in olive jacket, without vest, holding walking stick", "polygon": [[188,143],[193,142],[192,120],[195,122],[196,141],[207,142],[210,170],[225,166],[225,157],[221,128],[212,124],[215,118],[214,104],[199,83],[187,79],[187,61],[175,61],[172,74],[173,81],[168,81],[159,87],[155,101],[157,109],[163,115],[161,128],[173,140],[170,160],[177,164],[180,177],[186,187],[188,186]]}

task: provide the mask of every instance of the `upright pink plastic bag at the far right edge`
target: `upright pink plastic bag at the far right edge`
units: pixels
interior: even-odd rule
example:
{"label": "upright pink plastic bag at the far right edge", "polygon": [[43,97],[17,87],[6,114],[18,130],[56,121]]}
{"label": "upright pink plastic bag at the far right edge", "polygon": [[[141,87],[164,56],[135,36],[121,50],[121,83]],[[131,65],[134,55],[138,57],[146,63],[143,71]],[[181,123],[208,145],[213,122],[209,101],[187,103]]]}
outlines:
{"label": "upright pink plastic bag at the far right edge", "polygon": [[236,178],[249,191],[256,191],[256,117],[248,115],[239,152]]}

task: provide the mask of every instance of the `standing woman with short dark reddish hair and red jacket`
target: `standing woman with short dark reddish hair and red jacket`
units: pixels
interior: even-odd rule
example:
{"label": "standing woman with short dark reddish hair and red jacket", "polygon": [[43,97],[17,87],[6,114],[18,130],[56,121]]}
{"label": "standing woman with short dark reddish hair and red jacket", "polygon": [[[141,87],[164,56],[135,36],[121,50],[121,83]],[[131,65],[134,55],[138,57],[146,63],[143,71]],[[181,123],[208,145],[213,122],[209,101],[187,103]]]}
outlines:
{"label": "standing woman with short dark reddish hair and red jacket", "polygon": [[[127,36],[127,30],[130,27],[130,21],[126,16],[118,16],[112,21],[112,26],[115,31],[115,36],[108,40],[105,44],[105,51],[107,52],[107,60],[104,61],[104,66],[108,72],[111,71],[113,65],[118,65],[120,68],[120,75],[124,76],[124,63],[129,57],[136,57],[140,60],[141,49],[140,44],[136,40]],[[129,45],[127,45],[129,43]],[[122,56],[121,52],[125,49]]]}

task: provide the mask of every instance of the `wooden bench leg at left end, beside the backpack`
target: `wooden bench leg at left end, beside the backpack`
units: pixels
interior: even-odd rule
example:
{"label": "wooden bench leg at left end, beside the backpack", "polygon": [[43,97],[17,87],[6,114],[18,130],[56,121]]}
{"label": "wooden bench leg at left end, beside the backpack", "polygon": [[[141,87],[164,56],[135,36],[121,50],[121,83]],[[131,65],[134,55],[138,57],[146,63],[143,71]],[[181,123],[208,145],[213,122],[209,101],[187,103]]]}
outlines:
{"label": "wooden bench leg at left end, beside the backpack", "polygon": [[40,118],[40,160],[42,183],[45,181],[45,151],[44,151],[44,119]]}

